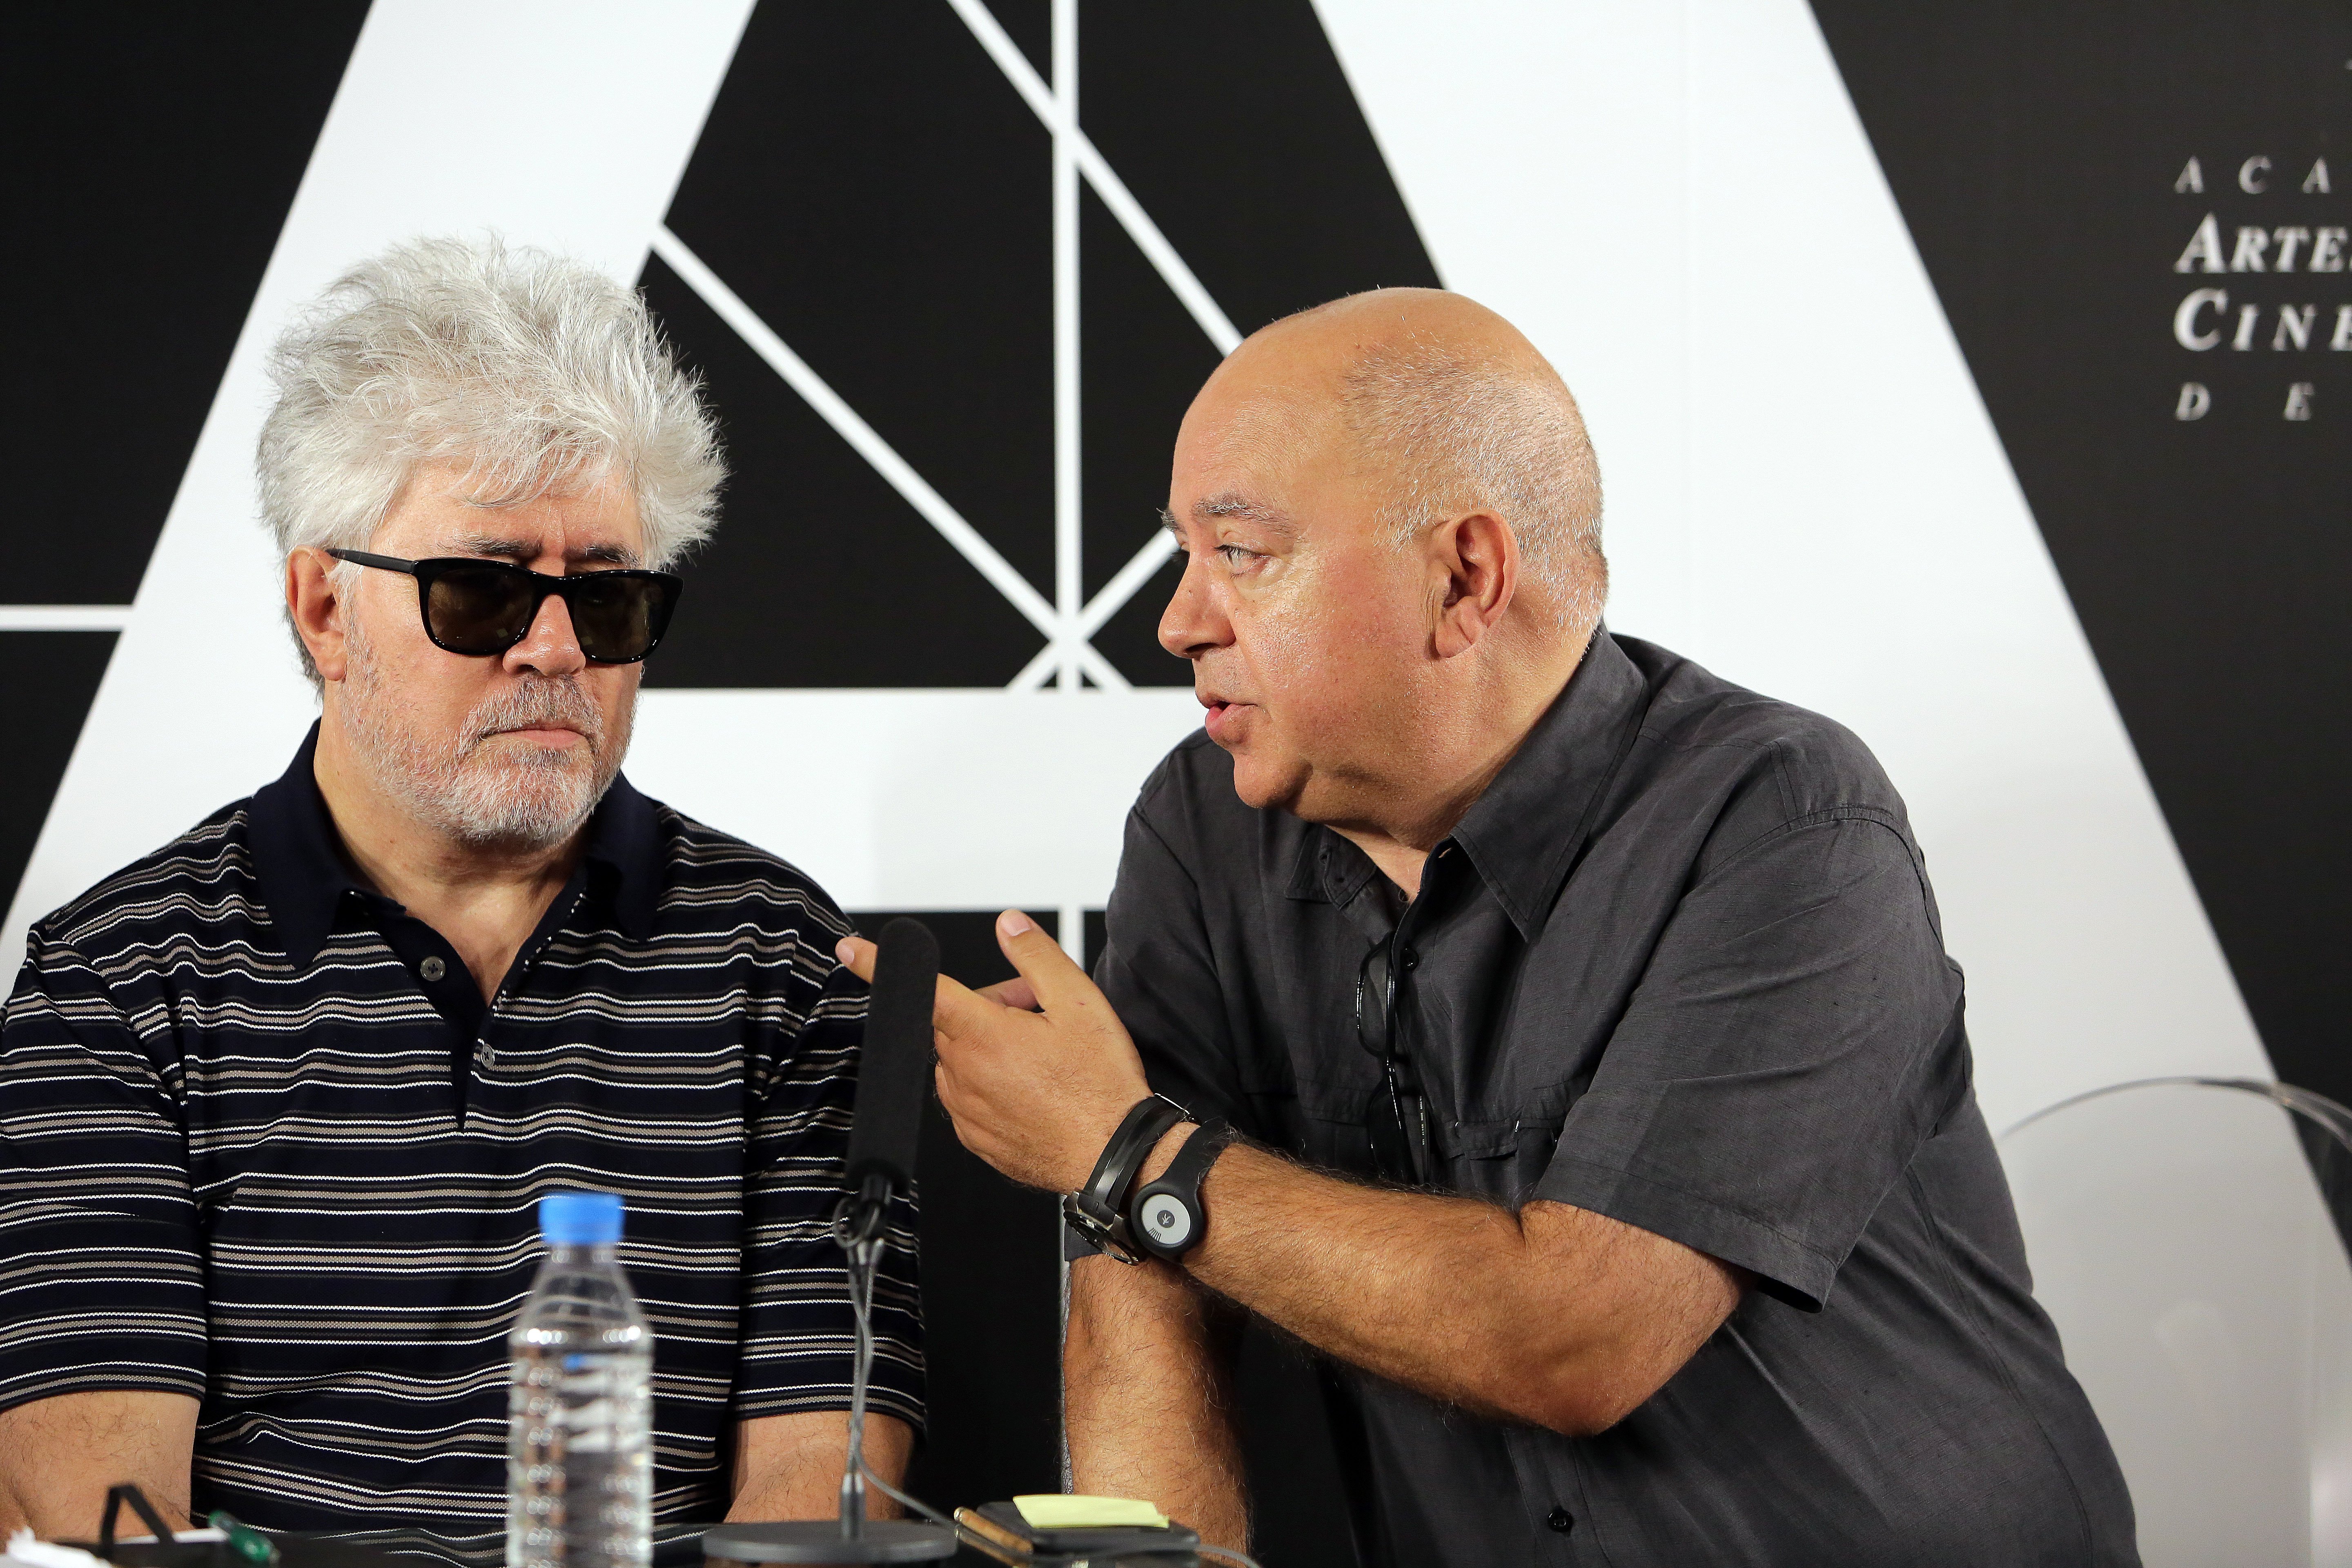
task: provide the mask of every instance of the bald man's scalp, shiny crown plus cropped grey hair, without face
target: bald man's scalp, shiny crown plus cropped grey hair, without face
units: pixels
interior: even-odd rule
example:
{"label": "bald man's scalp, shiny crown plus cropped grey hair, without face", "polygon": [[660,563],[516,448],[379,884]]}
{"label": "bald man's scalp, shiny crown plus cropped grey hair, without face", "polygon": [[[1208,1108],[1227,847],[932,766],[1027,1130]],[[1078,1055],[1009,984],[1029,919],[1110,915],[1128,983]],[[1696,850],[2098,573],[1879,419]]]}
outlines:
{"label": "bald man's scalp, shiny crown plus cropped grey hair, without face", "polygon": [[1195,411],[1228,442],[1343,451],[1404,545],[1444,517],[1494,510],[1519,541],[1531,609],[1559,630],[1599,621],[1602,487],[1559,371],[1501,315],[1444,289],[1374,289],[1251,334]]}

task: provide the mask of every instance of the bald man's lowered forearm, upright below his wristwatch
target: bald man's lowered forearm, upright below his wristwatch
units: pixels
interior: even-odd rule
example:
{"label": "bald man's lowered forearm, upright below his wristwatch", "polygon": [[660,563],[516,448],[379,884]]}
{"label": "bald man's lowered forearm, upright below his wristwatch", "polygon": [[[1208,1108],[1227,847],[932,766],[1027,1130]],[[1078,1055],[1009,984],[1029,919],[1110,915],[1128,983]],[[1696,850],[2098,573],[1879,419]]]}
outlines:
{"label": "bald man's lowered forearm, upright below his wristwatch", "polygon": [[1063,1349],[1070,1479],[1148,1497],[1218,1547],[1247,1547],[1249,1502],[1225,1399],[1225,1335],[1167,1265],[1070,1265]]}

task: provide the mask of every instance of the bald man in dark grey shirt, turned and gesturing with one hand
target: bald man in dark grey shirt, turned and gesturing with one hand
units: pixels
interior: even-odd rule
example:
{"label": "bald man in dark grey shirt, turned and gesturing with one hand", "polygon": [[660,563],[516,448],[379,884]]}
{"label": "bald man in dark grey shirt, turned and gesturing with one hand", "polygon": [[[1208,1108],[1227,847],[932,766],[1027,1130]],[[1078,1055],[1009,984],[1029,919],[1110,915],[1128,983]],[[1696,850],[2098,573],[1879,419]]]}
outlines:
{"label": "bald man in dark grey shirt, turned and gesturing with one hand", "polygon": [[1129,818],[1098,985],[1004,914],[1023,978],[938,999],[962,1140],[1108,1248],[1077,1488],[1247,1537],[1240,1307],[1327,1356],[1369,1563],[2136,1561],[1903,802],[1599,628],[1592,451],[1526,339],[1402,289],[1275,322],[1169,527],[1207,726]]}

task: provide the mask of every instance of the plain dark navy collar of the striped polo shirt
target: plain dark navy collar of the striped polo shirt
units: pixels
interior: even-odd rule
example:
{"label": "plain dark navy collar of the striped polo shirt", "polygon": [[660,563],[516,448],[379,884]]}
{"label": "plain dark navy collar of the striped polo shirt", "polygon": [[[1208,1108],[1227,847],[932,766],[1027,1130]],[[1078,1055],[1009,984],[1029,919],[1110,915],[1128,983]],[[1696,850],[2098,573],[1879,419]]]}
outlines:
{"label": "plain dark navy collar of the striped polo shirt", "polygon": [[[287,957],[310,964],[334,931],[334,917],[348,893],[367,893],[343,860],[343,842],[318,790],[318,724],[303,736],[294,762],[273,783],[254,790],[247,813],[247,844],[254,877],[270,926]],[[588,865],[597,872],[590,889],[604,884],[614,922],[630,938],[654,929],[654,905],[661,898],[661,832],[654,802],[616,776],[588,820]]]}

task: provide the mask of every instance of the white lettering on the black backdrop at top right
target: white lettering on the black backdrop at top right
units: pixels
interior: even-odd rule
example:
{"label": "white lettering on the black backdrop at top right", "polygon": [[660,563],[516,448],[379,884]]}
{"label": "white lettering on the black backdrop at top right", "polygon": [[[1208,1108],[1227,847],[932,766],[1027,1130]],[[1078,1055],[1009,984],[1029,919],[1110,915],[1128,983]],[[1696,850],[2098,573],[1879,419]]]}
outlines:
{"label": "white lettering on the black backdrop at top right", "polygon": [[[2237,188],[2246,195],[2284,193],[2277,183],[2279,169],[2267,155],[2253,155],[2237,167]],[[2178,195],[2204,195],[2204,165],[2190,158],[2173,181]],[[2331,195],[2328,160],[2314,158],[2298,195]],[[2199,219],[2190,242],[2173,261],[2176,273],[2343,273],[2352,256],[2352,228],[2333,223],[2239,223],[2230,240],[2223,240],[2220,221],[2209,212]],[[2300,268],[2298,268],[2300,263]],[[2352,353],[2352,306],[2336,306],[2328,331],[2319,329],[2317,303],[2265,306],[2239,299],[2232,308],[2230,289],[2190,289],[2173,308],[2173,341],[2190,353],[2218,348],[2223,339],[2232,350],[2251,350],[2263,331],[2263,315],[2270,310],[2270,348],[2274,353],[2310,350],[2314,339],[2324,339],[2333,353]],[[2183,381],[2173,418],[2204,418],[2213,409],[2213,393],[2201,381]],[[2296,381],[2286,388],[2281,418],[2305,421],[2312,416],[2312,383]]]}

